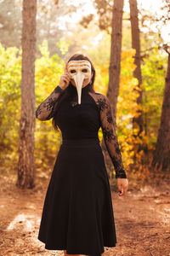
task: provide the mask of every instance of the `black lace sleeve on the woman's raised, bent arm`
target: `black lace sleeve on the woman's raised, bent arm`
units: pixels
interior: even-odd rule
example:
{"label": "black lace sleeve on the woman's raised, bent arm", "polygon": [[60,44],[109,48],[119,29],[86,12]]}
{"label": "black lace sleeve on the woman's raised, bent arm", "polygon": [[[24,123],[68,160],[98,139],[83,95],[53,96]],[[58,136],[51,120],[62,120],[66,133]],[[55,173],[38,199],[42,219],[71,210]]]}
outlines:
{"label": "black lace sleeve on the woman's raised, bent arm", "polygon": [[36,109],[36,118],[45,121],[54,116],[54,106],[57,102],[59,95],[63,91],[59,85],[55,87],[54,91],[43,101]]}

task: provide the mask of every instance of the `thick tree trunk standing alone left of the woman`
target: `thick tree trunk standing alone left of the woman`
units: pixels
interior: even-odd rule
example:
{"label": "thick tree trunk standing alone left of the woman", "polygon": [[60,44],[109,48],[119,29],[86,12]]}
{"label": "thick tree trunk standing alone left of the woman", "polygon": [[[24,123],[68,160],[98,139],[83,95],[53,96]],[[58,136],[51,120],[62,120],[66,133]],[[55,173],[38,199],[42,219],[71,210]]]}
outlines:
{"label": "thick tree trunk standing alone left of the woman", "polygon": [[37,0],[23,0],[22,79],[18,180],[16,185],[31,189],[34,184],[35,58]]}

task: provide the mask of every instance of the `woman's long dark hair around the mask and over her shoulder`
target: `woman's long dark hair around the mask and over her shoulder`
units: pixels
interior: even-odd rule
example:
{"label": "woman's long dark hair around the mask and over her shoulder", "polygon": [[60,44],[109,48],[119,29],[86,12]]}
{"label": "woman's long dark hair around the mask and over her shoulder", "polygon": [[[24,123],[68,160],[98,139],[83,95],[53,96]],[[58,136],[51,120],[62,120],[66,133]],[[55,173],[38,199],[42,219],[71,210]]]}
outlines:
{"label": "woman's long dark hair around the mask and over her shoulder", "polygon": [[[94,91],[95,69],[94,69],[94,65],[93,65],[92,61],[90,61],[88,55],[85,55],[85,54],[82,54],[82,53],[76,53],[76,54],[72,55],[67,62],[69,62],[69,61],[82,61],[82,60],[89,61],[91,63],[93,77],[91,79],[91,84],[90,84],[89,90],[92,91],[92,92],[95,92]],[[70,82],[69,85],[71,85],[71,82]],[[55,131],[59,130],[59,127],[56,124],[56,119],[55,119],[56,113],[57,113],[58,108],[59,108],[59,104],[61,102],[63,102],[66,98],[68,98],[69,96],[70,96],[70,91],[68,90],[68,87],[65,90],[63,90],[59,95],[59,98],[57,100],[57,104],[56,104],[55,110],[54,110],[54,118],[52,119],[52,124],[54,126]]]}

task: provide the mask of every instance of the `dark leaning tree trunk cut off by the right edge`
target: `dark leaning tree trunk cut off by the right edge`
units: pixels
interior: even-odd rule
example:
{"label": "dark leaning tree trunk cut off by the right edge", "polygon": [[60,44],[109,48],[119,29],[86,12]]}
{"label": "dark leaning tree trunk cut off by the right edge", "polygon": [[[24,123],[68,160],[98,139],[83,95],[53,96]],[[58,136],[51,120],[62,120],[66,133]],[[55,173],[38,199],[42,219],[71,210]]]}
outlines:
{"label": "dark leaning tree trunk cut off by the right edge", "polygon": [[166,171],[169,164],[170,149],[170,50],[167,60],[167,76],[161,108],[161,124],[158,131],[156,150],[151,163],[152,170]]}

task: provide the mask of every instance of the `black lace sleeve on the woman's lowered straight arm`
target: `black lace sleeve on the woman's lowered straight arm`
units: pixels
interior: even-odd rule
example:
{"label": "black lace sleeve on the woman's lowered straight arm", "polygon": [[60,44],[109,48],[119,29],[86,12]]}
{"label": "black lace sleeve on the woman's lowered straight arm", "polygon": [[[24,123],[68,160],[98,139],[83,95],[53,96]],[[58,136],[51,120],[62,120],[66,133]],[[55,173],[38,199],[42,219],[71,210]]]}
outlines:
{"label": "black lace sleeve on the woman's lowered straight arm", "polygon": [[111,104],[107,96],[104,95],[100,95],[98,104],[105,147],[107,148],[107,151],[111,157],[111,161],[114,165],[116,178],[127,178],[124,166],[122,165],[122,154],[119,149],[119,143],[116,137],[116,129],[113,122]]}

